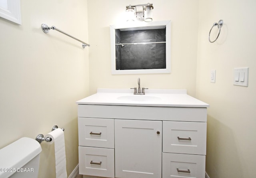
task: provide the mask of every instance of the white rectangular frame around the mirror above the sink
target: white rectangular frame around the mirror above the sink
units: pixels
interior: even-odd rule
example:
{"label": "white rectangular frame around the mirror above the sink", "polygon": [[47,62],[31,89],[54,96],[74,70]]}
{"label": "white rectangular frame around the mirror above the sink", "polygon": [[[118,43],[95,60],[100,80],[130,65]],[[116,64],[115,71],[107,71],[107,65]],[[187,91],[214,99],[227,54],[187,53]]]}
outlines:
{"label": "white rectangular frame around the mirror above the sink", "polygon": [[[166,69],[130,69],[116,70],[116,29],[144,30],[155,26],[166,26]],[[134,29],[133,29],[134,28]],[[112,74],[137,74],[137,73],[170,73],[171,72],[171,21],[158,22],[127,22],[110,26],[111,69]]]}

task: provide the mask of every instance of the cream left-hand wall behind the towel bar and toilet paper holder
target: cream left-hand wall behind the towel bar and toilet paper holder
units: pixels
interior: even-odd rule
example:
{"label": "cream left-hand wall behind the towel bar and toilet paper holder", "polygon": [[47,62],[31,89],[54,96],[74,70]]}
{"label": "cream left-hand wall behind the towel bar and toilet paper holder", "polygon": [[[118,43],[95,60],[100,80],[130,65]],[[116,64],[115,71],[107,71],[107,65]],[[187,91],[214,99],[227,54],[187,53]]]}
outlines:
{"label": "cream left-hand wall behind the towel bar and toilet paper holder", "polygon": [[[89,93],[86,0],[21,0],[22,25],[0,18],[0,148],[65,128],[68,175],[78,164],[76,101]],[[41,143],[40,178],[55,177],[54,145]]]}

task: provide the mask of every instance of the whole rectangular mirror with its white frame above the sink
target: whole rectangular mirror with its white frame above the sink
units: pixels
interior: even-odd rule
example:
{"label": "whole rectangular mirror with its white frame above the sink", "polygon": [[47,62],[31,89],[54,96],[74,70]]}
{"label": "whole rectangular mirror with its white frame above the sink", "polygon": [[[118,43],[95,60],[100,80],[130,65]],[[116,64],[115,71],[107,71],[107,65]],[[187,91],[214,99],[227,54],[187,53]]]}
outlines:
{"label": "whole rectangular mirror with its white frame above the sink", "polygon": [[112,74],[170,73],[170,22],[111,25]]}

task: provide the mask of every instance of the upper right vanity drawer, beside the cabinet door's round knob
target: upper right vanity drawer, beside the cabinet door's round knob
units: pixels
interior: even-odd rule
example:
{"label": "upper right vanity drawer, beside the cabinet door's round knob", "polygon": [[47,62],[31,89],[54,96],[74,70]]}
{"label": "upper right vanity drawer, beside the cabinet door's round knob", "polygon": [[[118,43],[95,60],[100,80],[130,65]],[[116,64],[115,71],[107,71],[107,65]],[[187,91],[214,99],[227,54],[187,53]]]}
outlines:
{"label": "upper right vanity drawer, beside the cabinet door's round knob", "polygon": [[206,123],[163,121],[163,152],[206,155]]}

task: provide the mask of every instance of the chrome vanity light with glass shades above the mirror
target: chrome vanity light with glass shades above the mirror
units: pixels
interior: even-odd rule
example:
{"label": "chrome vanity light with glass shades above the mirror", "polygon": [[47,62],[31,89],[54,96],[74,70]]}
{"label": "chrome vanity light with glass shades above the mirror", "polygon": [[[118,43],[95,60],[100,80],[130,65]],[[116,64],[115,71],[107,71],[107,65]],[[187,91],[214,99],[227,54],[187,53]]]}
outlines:
{"label": "chrome vanity light with glass shades above the mirror", "polygon": [[136,19],[138,21],[151,22],[153,20],[153,8],[152,3],[126,6],[127,21],[134,21]]}

